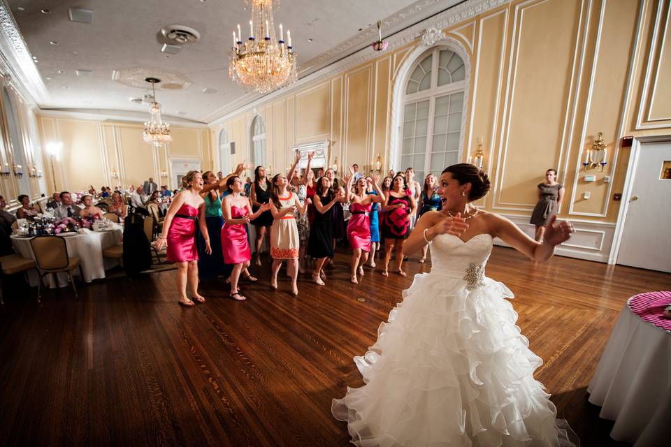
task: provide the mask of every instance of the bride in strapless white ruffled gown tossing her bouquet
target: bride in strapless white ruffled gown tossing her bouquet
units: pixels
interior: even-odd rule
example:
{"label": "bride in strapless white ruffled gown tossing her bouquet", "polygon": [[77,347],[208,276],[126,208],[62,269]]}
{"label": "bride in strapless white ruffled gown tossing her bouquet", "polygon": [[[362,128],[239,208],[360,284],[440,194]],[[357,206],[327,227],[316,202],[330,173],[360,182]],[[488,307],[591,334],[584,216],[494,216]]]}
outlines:
{"label": "bride in strapless white ruffled gown tossing her bouquet", "polygon": [[366,385],[334,399],[333,415],[361,447],[579,445],[533,379],[542,360],[515,325],[512,292],[484,276],[493,237],[546,261],[571,224],[553,218],[535,242],[472,205],[489,191],[482,170],[450,166],[438,183],[443,210],[424,214],[404,247],[429,244],[431,272],[415,275],[377,342],[354,358]]}

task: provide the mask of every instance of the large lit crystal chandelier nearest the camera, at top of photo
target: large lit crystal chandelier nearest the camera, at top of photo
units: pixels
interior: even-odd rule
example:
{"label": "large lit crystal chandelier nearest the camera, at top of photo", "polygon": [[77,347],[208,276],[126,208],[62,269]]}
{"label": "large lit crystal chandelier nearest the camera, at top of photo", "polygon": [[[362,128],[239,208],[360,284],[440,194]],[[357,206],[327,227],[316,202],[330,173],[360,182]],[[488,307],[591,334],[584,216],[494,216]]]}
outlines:
{"label": "large lit crystal chandelier nearest the camera, at top of photo", "polygon": [[[273,0],[250,0],[252,20],[250,37],[243,43],[238,24],[238,34],[233,31],[233,49],[229,75],[248,91],[268,93],[296,82],[296,54],[291,47],[291,32],[280,24],[280,38],[275,36]],[[263,36],[263,37],[262,37]]]}

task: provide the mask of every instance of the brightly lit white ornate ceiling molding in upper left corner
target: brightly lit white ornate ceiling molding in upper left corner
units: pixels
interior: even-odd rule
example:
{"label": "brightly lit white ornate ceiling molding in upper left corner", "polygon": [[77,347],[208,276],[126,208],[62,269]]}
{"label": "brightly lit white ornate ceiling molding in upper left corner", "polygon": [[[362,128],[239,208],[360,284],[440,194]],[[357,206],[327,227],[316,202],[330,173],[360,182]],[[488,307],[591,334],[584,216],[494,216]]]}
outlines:
{"label": "brightly lit white ornate ceiling molding in upper left corner", "polygon": [[47,103],[48,93],[6,2],[0,0],[0,69],[30,103]]}

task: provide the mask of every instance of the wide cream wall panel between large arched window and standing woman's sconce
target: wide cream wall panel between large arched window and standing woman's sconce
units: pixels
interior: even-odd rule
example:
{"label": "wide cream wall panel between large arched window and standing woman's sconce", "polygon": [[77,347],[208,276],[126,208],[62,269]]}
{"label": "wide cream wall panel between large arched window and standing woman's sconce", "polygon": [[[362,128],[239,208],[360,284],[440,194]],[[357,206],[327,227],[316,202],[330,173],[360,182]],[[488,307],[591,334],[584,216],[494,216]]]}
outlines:
{"label": "wide cream wall panel between large arched window and standing woman's sconce", "polygon": [[495,208],[531,210],[542,173],[561,161],[580,6],[578,0],[516,6],[510,111]]}

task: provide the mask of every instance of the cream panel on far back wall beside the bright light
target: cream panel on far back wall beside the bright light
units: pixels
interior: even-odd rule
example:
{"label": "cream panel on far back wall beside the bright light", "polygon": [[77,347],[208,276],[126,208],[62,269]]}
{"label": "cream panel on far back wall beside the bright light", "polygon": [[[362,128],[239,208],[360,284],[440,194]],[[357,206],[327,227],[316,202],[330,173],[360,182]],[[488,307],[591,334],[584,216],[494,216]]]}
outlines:
{"label": "cream panel on far back wall beside the bright light", "polygon": [[100,124],[94,121],[57,119],[59,140],[63,142],[62,169],[65,188],[73,191],[89,189],[105,178],[103,141]]}

